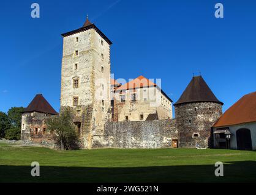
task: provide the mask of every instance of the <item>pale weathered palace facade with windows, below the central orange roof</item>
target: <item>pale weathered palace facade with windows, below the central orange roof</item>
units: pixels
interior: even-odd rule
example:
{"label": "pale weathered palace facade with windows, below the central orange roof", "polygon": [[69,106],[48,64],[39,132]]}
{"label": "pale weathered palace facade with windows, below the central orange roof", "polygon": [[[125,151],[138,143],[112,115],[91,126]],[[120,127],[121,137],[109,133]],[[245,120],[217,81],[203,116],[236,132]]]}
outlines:
{"label": "pale weathered palace facade with windows, below the central orange roof", "polygon": [[[121,92],[121,93],[120,93]],[[131,96],[136,95],[136,101]],[[125,99],[121,101],[121,96]],[[157,113],[159,119],[171,119],[172,104],[157,87],[143,87],[115,91],[114,121],[145,121],[149,114]]]}

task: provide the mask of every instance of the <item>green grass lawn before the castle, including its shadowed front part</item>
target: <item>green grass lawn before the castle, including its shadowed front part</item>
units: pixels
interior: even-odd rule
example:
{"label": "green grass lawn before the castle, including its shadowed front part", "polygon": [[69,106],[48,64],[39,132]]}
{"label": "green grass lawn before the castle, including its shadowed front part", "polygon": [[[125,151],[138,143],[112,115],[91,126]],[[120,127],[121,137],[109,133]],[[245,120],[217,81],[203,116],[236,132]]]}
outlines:
{"label": "green grass lawn before the castle, including its shadowed front part", "polygon": [[[31,176],[31,162],[40,177]],[[216,161],[224,177],[214,175]],[[222,149],[53,151],[0,143],[0,182],[256,182],[256,152]]]}

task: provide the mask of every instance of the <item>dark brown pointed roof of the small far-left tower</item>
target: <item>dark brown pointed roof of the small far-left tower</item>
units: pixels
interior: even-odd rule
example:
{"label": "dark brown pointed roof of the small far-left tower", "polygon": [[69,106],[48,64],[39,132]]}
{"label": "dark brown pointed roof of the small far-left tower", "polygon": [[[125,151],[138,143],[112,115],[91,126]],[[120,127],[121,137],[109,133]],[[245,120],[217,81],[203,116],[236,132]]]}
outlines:
{"label": "dark brown pointed roof of the small far-left tower", "polygon": [[37,94],[36,97],[30,102],[28,107],[25,108],[24,112],[41,112],[51,115],[58,114],[58,112],[56,112],[55,109],[51,107],[47,100],[43,98],[42,94]]}

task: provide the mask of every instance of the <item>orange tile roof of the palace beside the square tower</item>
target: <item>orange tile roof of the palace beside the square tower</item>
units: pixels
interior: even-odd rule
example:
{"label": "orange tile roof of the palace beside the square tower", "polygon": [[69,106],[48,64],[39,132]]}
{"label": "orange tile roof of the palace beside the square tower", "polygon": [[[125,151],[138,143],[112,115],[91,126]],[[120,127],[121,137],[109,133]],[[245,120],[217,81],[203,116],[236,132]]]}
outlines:
{"label": "orange tile roof of the palace beside the square tower", "polygon": [[130,82],[125,83],[124,85],[121,85],[121,87],[117,88],[116,91],[151,86],[156,86],[156,83],[151,82],[143,76],[139,76],[136,79],[131,80]]}

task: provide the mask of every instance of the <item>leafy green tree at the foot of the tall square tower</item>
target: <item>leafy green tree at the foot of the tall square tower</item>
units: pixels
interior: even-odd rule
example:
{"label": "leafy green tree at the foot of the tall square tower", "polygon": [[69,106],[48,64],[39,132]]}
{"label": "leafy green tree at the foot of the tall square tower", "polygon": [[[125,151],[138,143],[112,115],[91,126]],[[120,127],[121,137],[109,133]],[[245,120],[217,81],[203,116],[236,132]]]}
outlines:
{"label": "leafy green tree at the foot of the tall square tower", "polygon": [[61,115],[53,116],[46,121],[47,130],[53,133],[53,139],[61,150],[78,149],[80,140],[72,121],[72,113],[64,110]]}

